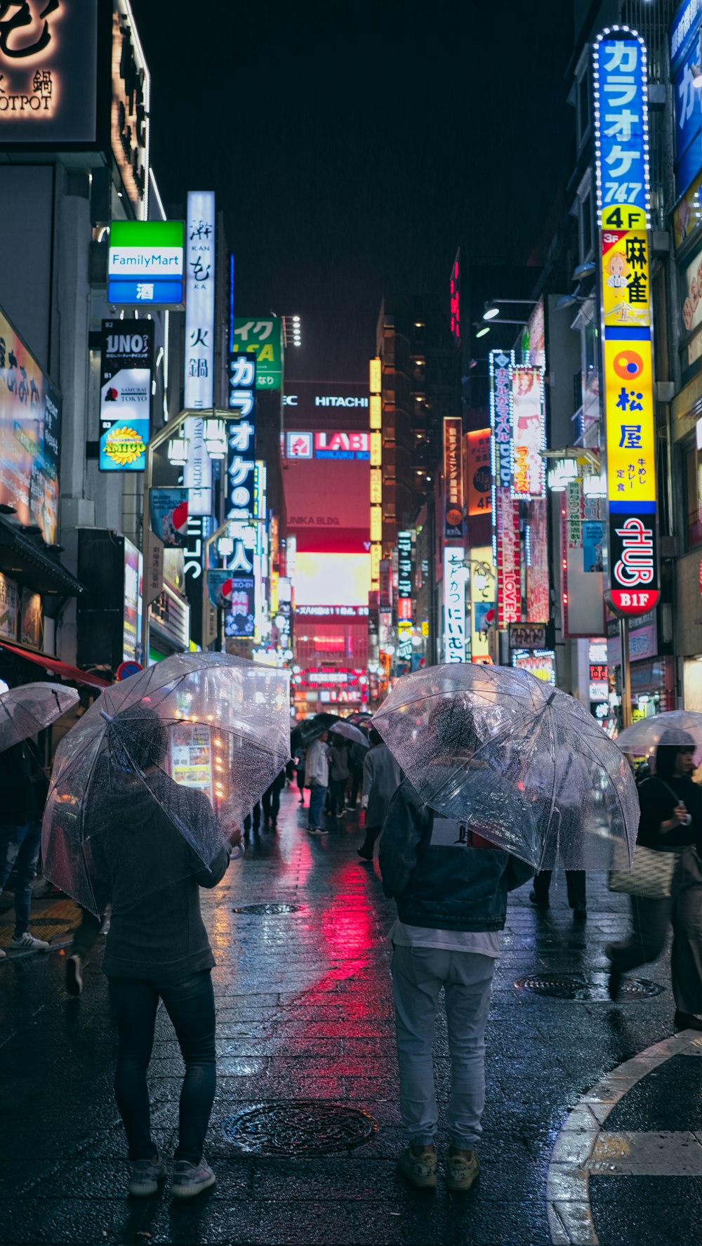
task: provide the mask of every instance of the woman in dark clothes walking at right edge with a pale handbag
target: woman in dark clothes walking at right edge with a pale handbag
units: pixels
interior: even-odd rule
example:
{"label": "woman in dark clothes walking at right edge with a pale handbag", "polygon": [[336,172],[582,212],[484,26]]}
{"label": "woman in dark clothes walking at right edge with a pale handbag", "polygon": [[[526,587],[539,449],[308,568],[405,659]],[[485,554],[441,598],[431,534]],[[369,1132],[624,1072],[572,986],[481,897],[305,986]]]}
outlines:
{"label": "woman in dark clothes walking at right edge with a pale handbag", "polygon": [[[630,888],[634,928],[627,939],[606,947],[611,964],[609,993],[610,999],[616,999],[622,974],[661,954],[672,922],[671,974],[677,1029],[702,1029],[698,1015],[702,1014],[702,861],[698,856],[702,789],[692,781],[693,770],[692,736],[680,730],[663,733],[656,750],[655,776],[639,787],[639,860],[635,855]],[[656,855],[660,855],[658,870]],[[620,890],[614,881],[610,886]]]}

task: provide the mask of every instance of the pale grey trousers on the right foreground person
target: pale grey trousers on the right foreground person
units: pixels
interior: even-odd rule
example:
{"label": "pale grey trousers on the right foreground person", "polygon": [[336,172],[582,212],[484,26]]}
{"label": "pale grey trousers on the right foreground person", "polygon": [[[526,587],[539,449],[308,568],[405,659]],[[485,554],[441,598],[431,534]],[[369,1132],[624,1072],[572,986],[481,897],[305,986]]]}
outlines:
{"label": "pale grey trousers on the right foreground person", "polygon": [[439,991],[446,993],[451,1052],[451,1145],[472,1150],[485,1106],[485,1022],[494,957],[433,947],[396,947],[392,994],[400,1111],[410,1141],[433,1143],[438,1125],[432,1048]]}

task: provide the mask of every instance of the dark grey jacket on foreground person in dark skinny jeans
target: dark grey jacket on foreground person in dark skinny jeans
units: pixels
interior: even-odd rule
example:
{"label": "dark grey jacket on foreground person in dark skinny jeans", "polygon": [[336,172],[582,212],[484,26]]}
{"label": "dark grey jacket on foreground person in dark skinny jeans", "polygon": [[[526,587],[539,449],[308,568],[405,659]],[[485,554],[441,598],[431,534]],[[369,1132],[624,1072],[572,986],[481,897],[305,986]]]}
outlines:
{"label": "dark grey jacket on foreground person in dark skinny jeans", "polygon": [[[205,845],[209,870],[162,811],[166,805]],[[101,829],[91,836],[102,901],[112,903],[103,971],[113,978],[174,982],[210,969],[214,956],[200,915],[200,887],[214,887],[229,852],[204,792],[182,787],[157,773],[143,780],[112,782],[95,805]],[[159,886],[161,881],[161,886]]]}

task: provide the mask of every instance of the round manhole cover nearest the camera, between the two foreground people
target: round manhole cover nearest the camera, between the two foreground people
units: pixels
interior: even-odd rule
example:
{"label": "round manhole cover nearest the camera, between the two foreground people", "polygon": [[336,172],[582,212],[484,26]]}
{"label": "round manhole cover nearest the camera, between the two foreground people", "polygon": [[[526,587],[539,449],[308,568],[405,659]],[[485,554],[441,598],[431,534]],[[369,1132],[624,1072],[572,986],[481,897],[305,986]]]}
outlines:
{"label": "round manhole cover nearest the camera, between the two foreground people", "polygon": [[222,1123],[249,1155],[332,1155],[367,1143],[377,1128],[367,1111],[319,1100],[263,1104]]}

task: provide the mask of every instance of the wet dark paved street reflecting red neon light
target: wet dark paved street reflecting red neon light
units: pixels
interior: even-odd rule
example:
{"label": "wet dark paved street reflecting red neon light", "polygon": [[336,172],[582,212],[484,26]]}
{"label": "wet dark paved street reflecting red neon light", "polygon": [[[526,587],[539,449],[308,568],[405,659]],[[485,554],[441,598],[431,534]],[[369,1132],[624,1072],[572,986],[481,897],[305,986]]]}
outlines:
{"label": "wet dark paved street reflecting red neon light", "polygon": [[[174,1205],[167,1189],[148,1200],[124,1196],[101,952],[81,999],[70,999],[65,946],[76,910],[56,897],[35,903],[31,928],[56,946],[0,962],[0,1246],[697,1241],[702,1044],[691,1032],[671,1039],[666,957],[642,976],[660,994],[644,984],[641,997],[607,1001],[604,944],[626,930],[627,908],[600,878],[589,880],[586,923],[574,923],[564,878],[554,878],[546,913],[529,903],[528,886],[512,897],[475,1189],[466,1196],[448,1194],[441,1180],[436,1192],[402,1182],[387,943],[393,905],[377,865],[356,856],[355,817],[311,837],[296,797],[295,787],[284,792],[278,832],[249,836],[244,860],[203,893],[218,961],[219,1080],[207,1146],[218,1184],[193,1204]],[[11,911],[0,911],[0,946],[11,930]],[[549,974],[561,977],[556,996],[541,993]],[[566,974],[575,978],[564,993]],[[436,1055],[443,1110],[443,1024]],[[166,1156],[180,1069],[159,1013],[151,1089]],[[310,1154],[316,1139],[335,1136],[329,1113],[315,1119],[317,1104],[367,1114],[346,1114],[345,1129],[370,1115],[377,1130],[365,1130],[366,1140],[349,1135],[357,1143],[351,1150]],[[266,1110],[246,1133],[238,1119],[248,1109]],[[305,1154],[281,1154],[302,1144]],[[255,1154],[261,1146],[269,1154]]]}

